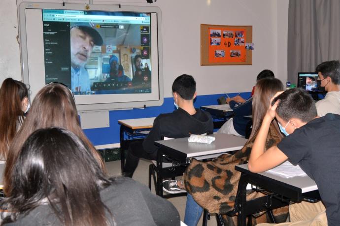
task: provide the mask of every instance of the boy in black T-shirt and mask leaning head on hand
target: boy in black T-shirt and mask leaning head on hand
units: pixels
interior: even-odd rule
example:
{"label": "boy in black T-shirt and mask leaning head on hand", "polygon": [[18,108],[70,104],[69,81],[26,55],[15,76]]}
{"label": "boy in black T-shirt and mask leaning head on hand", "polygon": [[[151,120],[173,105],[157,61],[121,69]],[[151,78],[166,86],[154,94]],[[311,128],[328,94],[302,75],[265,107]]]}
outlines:
{"label": "boy in black T-shirt and mask leaning head on hand", "polygon": [[[274,118],[286,137],[265,152],[265,138]],[[340,115],[318,117],[315,102],[302,89],[287,90],[273,99],[252,147],[248,168],[263,172],[289,159],[315,181],[322,200],[290,205],[291,222],[282,225],[339,225],[339,128]]]}

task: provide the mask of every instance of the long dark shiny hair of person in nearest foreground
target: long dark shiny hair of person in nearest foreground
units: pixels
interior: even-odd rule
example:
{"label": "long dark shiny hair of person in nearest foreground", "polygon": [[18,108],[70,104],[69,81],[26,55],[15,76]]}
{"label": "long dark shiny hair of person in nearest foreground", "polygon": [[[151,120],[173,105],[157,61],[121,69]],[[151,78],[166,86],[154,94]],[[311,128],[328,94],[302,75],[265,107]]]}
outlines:
{"label": "long dark shiny hair of person in nearest foreground", "polygon": [[32,133],[13,166],[12,183],[11,195],[1,203],[12,213],[7,222],[28,214],[47,198],[62,225],[108,225],[100,190],[111,181],[91,149],[66,129]]}

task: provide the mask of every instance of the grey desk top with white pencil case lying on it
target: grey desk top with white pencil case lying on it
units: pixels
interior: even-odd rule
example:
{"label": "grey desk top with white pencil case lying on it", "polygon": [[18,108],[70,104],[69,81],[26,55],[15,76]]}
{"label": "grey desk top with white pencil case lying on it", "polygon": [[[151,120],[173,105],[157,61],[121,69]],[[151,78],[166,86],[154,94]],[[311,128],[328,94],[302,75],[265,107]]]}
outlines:
{"label": "grey desk top with white pencil case lying on it", "polygon": [[216,138],[211,144],[189,143],[188,137],[160,140],[156,142],[185,153],[187,154],[187,157],[198,157],[240,150],[247,141],[247,139],[224,133],[216,133],[210,136],[214,136]]}

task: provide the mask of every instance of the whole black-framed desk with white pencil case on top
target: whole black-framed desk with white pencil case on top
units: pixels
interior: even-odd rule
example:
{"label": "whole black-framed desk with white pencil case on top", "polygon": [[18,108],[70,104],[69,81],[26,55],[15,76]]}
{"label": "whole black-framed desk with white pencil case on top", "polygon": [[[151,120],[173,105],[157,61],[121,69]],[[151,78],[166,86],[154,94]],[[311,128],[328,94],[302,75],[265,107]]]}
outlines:
{"label": "whole black-framed desk with white pencil case on top", "polygon": [[[240,150],[245,142],[244,138],[229,135],[229,134],[212,134],[216,139],[211,144],[189,143],[188,137],[155,141],[155,145],[159,146],[157,168],[157,190],[162,197],[173,196],[163,195],[163,178],[170,178],[173,176],[181,176],[187,164],[190,163],[190,158],[196,159],[210,159],[219,156],[224,152]],[[172,172],[163,169],[163,155],[170,157],[177,162]],[[213,156],[211,156],[213,155]],[[157,191],[156,190],[156,191]]]}

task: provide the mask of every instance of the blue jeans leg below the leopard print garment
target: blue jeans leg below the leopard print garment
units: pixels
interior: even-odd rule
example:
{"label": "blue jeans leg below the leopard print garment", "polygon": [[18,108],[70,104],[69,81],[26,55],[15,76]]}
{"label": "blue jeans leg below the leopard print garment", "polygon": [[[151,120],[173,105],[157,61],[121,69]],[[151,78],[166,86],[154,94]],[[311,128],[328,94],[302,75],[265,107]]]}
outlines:
{"label": "blue jeans leg below the leopard print garment", "polygon": [[187,226],[197,226],[203,213],[203,208],[197,204],[193,196],[188,193],[185,205],[184,223]]}

